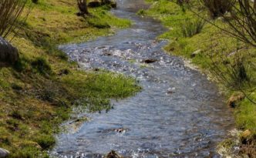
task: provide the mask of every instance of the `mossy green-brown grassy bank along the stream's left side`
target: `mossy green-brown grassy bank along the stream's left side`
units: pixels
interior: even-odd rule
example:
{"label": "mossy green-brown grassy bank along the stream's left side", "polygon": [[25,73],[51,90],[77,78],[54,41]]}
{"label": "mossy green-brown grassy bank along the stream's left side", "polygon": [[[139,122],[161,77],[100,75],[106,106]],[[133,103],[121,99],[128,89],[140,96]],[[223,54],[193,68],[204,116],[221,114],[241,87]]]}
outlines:
{"label": "mossy green-brown grassy bank along the stream's left side", "polygon": [[109,14],[108,7],[91,8],[91,16],[76,16],[76,1],[39,0],[12,44],[19,62],[0,68],[0,147],[9,157],[48,157],[56,127],[69,119],[72,106],[92,112],[109,109],[109,99],[140,90],[132,78],[110,72],[84,72],[56,49],[64,42],[83,42],[113,34],[130,22]]}

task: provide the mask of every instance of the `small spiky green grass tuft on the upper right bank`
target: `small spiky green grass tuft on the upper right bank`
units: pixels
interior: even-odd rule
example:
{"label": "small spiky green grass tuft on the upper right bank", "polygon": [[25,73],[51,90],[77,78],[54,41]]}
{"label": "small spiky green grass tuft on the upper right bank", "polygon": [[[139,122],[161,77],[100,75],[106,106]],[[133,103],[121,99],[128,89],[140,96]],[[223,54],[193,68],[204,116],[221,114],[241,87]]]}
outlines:
{"label": "small spiky green grass tuft on the upper right bank", "polygon": [[184,22],[180,23],[181,33],[184,37],[192,37],[201,32],[204,28],[204,20],[200,18],[191,19],[187,18]]}

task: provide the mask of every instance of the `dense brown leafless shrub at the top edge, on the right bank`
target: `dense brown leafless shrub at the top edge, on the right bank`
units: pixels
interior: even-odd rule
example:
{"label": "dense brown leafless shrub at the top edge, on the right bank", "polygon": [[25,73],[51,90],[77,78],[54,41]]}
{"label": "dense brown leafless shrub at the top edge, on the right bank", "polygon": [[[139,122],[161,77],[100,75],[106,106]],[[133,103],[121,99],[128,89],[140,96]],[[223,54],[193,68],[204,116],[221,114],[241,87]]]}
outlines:
{"label": "dense brown leafless shrub at the top edge, on the right bank", "polygon": [[211,18],[217,18],[230,12],[234,5],[234,0],[201,0],[201,2],[208,9]]}

